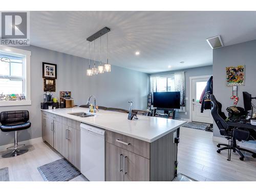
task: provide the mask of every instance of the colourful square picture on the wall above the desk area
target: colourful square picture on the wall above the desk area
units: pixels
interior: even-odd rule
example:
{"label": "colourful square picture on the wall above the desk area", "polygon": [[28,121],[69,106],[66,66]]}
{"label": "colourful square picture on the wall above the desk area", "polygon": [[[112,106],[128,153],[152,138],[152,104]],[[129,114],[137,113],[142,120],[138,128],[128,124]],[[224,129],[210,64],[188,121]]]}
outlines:
{"label": "colourful square picture on the wall above the desk area", "polygon": [[227,86],[244,86],[245,66],[226,67]]}

